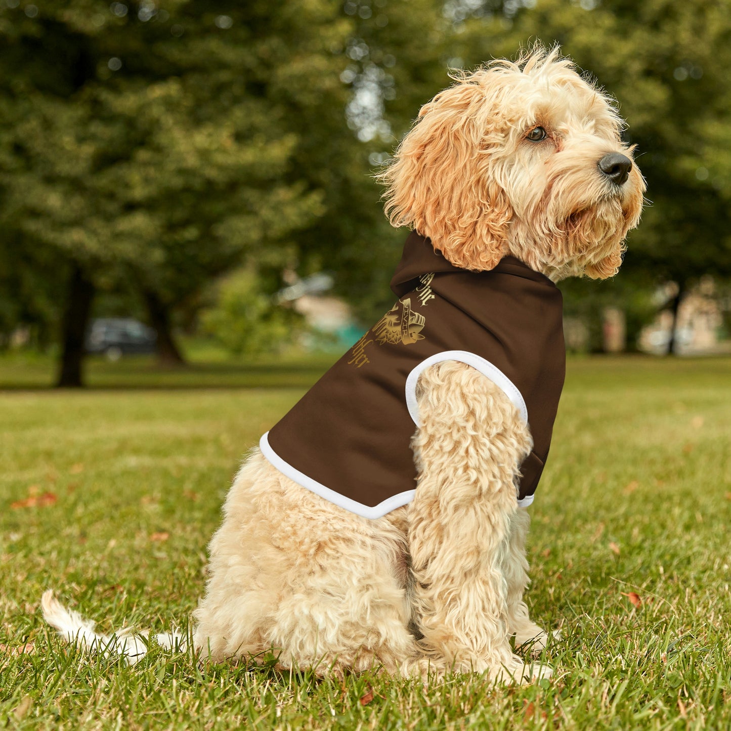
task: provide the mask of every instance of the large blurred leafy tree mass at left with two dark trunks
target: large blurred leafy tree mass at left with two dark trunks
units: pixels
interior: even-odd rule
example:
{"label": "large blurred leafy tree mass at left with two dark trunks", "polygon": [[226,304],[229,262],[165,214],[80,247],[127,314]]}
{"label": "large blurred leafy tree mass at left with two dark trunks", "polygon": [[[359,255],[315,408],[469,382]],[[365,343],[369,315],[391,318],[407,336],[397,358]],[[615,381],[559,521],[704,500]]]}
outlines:
{"label": "large blurred leafy tree mass at left with two dark trunks", "polygon": [[289,235],[324,213],[292,164],[299,122],[281,88],[342,110],[330,46],[349,21],[327,0],[4,6],[4,268],[31,249],[63,262],[58,384],[80,385],[94,289],[123,277],[177,360],[171,309],[246,255],[281,268]]}

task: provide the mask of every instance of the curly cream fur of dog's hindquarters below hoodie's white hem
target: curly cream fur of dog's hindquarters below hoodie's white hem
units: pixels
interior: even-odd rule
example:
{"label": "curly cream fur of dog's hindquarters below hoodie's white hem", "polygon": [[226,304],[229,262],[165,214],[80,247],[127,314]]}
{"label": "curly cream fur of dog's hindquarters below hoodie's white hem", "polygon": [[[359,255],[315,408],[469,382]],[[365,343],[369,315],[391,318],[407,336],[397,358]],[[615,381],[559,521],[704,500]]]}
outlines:
{"label": "curly cream fur of dog's hindquarters below hoodie's white hem", "polygon": [[254,450],[211,540],[195,645],[213,659],[274,651],[282,667],[398,672],[416,654],[405,511],[368,520],[341,510]]}

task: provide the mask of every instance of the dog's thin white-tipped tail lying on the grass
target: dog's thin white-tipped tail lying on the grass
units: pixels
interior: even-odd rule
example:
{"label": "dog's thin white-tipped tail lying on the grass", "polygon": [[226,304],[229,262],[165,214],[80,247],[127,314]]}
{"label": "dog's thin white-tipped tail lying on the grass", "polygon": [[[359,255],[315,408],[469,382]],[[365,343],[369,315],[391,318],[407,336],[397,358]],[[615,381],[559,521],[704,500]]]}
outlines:
{"label": "dog's thin white-tipped tail lying on the grass", "polygon": [[[123,629],[113,635],[99,635],[94,632],[95,623],[90,619],[84,619],[78,612],[64,607],[53,596],[53,589],[43,592],[41,609],[45,621],[69,643],[76,643],[88,650],[101,652],[105,657],[124,656],[130,665],[140,661],[147,652],[145,641],[148,637],[147,632],[135,634],[129,629]],[[186,647],[186,638],[179,632],[164,632],[161,635],[155,635],[155,639],[159,645],[168,650],[175,648],[183,650]]]}

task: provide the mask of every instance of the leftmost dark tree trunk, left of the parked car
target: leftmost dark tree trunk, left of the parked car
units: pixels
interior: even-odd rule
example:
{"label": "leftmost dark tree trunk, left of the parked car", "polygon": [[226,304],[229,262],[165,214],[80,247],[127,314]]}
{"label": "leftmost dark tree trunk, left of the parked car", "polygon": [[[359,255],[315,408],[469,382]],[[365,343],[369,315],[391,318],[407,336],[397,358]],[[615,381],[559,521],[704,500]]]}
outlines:
{"label": "leftmost dark tree trunk, left of the parked car", "polygon": [[69,294],[64,311],[61,337],[61,368],[56,386],[59,388],[80,388],[83,386],[81,368],[84,357],[84,338],[94,299],[94,284],[75,264],[69,281]]}

